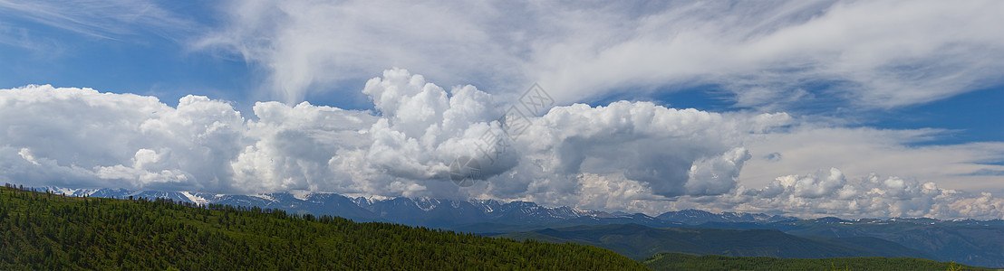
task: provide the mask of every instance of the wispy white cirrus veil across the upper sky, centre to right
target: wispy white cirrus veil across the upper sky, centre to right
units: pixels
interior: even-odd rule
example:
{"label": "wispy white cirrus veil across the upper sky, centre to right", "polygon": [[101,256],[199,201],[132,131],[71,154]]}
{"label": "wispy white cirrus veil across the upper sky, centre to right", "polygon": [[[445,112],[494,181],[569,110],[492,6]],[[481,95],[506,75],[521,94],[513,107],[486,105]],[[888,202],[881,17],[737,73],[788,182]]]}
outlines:
{"label": "wispy white cirrus veil across the upper sky, centre to right", "polygon": [[738,107],[885,109],[999,85],[1004,63],[999,1],[226,7],[227,25],[194,47],[261,65],[266,88],[290,103],[398,66],[497,95],[536,81],[558,104],[717,85]]}

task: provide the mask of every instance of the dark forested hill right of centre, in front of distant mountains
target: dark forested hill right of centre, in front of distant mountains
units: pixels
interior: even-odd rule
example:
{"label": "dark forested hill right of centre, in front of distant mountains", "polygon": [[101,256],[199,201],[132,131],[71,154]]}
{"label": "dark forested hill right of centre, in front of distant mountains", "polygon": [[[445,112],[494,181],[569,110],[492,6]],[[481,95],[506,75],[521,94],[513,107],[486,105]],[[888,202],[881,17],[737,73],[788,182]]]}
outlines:
{"label": "dark forested hill right of centre, in front of distant mountains", "polygon": [[574,226],[499,235],[516,240],[595,245],[634,259],[664,252],[778,258],[920,257],[934,255],[873,237],[801,237],[778,230],[651,228],[638,224]]}

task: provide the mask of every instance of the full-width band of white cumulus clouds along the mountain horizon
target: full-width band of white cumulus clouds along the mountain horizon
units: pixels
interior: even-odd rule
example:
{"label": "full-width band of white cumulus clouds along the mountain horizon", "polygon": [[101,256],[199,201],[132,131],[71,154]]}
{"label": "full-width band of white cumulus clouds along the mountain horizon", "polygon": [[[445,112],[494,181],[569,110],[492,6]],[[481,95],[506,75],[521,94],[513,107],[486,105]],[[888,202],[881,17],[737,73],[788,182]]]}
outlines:
{"label": "full-width band of white cumulus clouds along the mountain horizon", "polygon": [[[866,131],[820,128],[785,113],[712,113],[628,101],[573,104],[527,116],[529,126],[517,137],[506,137],[506,125],[513,123],[501,118],[502,109],[518,102],[496,103],[474,86],[447,91],[424,76],[393,69],[370,79],[361,93],[375,111],[259,102],[253,116],[245,116],[225,101],[201,96],[183,97],[172,107],[155,97],[92,89],[32,85],[0,90],[0,181],[239,194],[306,190],[492,198],[650,214],[704,208],[802,216],[1004,217],[1004,202],[990,193],[969,194],[911,177],[862,173],[855,176],[865,177],[848,178],[838,169],[787,172],[753,178],[766,185],[749,188],[758,186],[742,177],[750,163],[844,156],[800,151],[800,144],[771,145],[777,140],[810,145],[812,138],[831,134],[865,142],[870,149],[849,150],[858,157],[907,148],[897,140],[869,142],[865,139],[874,137]],[[486,135],[499,135],[505,148],[483,152]],[[949,159],[958,168],[1001,170],[981,164],[1004,153],[994,151],[999,144],[940,148],[955,153]],[[471,187],[449,181],[450,163],[463,156],[483,165]],[[929,159],[915,163],[945,161]]]}

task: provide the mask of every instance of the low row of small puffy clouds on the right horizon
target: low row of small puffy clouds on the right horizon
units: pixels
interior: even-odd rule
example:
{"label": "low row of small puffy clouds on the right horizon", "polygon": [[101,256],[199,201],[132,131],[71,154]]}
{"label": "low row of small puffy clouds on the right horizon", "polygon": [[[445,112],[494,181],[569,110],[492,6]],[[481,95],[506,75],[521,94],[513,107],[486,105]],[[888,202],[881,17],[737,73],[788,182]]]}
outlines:
{"label": "low row of small puffy clouds on the right horizon", "polygon": [[716,202],[681,204],[802,217],[934,217],[1001,219],[1004,198],[970,194],[900,177],[847,178],[839,169],[776,178],[761,189],[740,187]]}

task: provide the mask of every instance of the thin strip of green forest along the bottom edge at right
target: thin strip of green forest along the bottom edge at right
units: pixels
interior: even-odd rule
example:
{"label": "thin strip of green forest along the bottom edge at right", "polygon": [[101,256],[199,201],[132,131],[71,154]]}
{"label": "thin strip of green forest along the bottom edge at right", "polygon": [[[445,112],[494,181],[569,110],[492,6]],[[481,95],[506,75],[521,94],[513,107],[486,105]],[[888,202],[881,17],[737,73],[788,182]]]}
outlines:
{"label": "thin strip of green forest along the bottom edge at right", "polygon": [[779,259],[720,255],[697,256],[684,253],[655,255],[646,259],[645,265],[656,270],[994,270],[919,258]]}

